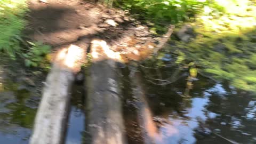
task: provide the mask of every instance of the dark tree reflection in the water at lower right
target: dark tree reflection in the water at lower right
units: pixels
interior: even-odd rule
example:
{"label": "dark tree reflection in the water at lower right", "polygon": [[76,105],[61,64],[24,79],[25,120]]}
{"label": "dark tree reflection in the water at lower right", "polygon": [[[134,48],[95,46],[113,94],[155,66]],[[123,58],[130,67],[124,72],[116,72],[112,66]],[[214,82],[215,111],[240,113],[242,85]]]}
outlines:
{"label": "dark tree reflection in the water at lower right", "polygon": [[[198,121],[208,127],[212,131],[217,131],[222,137],[242,143],[255,143],[256,124],[255,120],[246,117],[247,111],[253,107],[248,107],[249,102],[252,101],[249,93],[243,91],[234,91],[230,86],[222,85],[225,92],[211,91],[209,97],[209,104],[205,106],[206,121]],[[206,90],[207,91],[207,90]],[[254,105],[255,107],[255,105]],[[214,114],[211,117],[210,114]],[[197,129],[198,130],[198,129]],[[200,134],[196,133],[198,143],[216,142],[214,139],[207,139],[205,137],[198,137]],[[201,135],[202,136],[202,135]],[[211,135],[217,137],[218,141],[227,142],[227,140],[218,135]]]}

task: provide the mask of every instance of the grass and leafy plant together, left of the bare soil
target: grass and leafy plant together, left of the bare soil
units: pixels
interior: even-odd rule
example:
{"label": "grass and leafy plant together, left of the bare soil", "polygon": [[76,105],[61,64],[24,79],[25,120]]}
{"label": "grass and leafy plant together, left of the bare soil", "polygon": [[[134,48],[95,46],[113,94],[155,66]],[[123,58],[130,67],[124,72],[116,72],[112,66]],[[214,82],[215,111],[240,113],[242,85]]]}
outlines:
{"label": "grass and leafy plant together, left of the bare soil", "polygon": [[[23,58],[27,67],[49,69],[49,61],[45,55],[50,52],[51,47],[40,42],[25,42],[22,39],[27,11],[26,0],[0,1],[0,51],[9,54],[12,59],[17,56]],[[22,47],[21,42],[26,43],[26,46]]]}

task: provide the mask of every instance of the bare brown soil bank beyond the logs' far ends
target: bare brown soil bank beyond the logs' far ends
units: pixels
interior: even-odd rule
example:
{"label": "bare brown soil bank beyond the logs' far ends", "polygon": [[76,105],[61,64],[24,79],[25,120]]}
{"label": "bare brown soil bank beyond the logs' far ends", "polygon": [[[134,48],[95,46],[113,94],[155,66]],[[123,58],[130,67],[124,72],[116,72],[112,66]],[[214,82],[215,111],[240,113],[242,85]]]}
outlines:
{"label": "bare brown soil bank beyond the logs' far ends", "polygon": [[[148,27],[140,25],[140,22],[127,16],[126,12],[107,9],[89,1],[48,0],[43,3],[31,0],[29,8],[29,23],[25,35],[30,41],[41,41],[55,49],[69,44],[83,47],[92,38],[100,38],[115,51],[129,53],[129,59],[139,60],[139,57],[148,53],[145,51],[147,45],[151,46],[156,42],[149,34]],[[119,25],[108,25],[105,21],[109,19]],[[134,49],[137,49],[136,57]],[[138,55],[141,51],[143,54]]]}

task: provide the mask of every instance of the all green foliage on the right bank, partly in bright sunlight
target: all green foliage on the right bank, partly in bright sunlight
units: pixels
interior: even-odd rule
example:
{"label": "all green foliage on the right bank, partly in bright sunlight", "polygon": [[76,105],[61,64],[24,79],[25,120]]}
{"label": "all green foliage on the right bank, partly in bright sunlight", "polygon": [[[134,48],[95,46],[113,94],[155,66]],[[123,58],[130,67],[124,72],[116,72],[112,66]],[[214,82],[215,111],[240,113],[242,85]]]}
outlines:
{"label": "all green foliage on the right bank, partly in bright sunlight", "polygon": [[[172,59],[176,65],[193,61],[201,67],[200,73],[256,92],[255,1],[125,0],[118,4],[136,13],[135,18],[150,24],[155,34],[163,33],[170,23],[177,27],[189,23],[196,36],[189,42],[173,41],[175,44],[165,49],[178,54]],[[165,53],[156,57],[158,67],[165,66],[159,62]],[[195,69],[192,72],[194,75]]]}

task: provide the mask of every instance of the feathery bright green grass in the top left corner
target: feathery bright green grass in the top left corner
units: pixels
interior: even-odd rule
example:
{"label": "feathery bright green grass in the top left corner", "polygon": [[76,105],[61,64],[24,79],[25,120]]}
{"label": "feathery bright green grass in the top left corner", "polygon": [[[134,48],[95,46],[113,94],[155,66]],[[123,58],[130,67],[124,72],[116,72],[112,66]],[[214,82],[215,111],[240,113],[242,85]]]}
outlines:
{"label": "feathery bright green grass in the top left corner", "polygon": [[27,11],[25,0],[0,1],[0,51],[5,51],[12,58],[19,51],[19,36],[25,28],[23,19]]}

